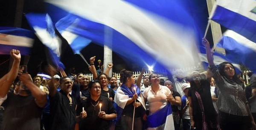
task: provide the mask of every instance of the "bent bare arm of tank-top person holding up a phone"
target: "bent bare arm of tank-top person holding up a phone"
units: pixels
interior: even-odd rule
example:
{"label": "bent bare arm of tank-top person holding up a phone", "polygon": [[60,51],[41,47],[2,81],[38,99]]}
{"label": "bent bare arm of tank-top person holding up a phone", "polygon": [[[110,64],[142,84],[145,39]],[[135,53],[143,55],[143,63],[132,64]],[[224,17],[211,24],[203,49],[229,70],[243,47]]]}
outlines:
{"label": "bent bare arm of tank-top person holding up a phone", "polygon": [[23,84],[26,84],[32,95],[35,97],[36,104],[40,108],[43,108],[47,102],[46,93],[32,82],[32,78],[29,74],[19,73],[19,78]]}

